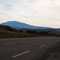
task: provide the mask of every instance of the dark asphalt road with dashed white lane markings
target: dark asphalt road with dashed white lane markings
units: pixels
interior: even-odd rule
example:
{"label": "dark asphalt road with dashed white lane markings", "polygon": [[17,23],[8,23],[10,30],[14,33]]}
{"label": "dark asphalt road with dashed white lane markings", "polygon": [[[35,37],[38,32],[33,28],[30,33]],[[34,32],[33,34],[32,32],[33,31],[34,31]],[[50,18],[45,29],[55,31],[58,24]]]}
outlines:
{"label": "dark asphalt road with dashed white lane markings", "polygon": [[0,39],[0,60],[35,60],[59,40],[58,37]]}

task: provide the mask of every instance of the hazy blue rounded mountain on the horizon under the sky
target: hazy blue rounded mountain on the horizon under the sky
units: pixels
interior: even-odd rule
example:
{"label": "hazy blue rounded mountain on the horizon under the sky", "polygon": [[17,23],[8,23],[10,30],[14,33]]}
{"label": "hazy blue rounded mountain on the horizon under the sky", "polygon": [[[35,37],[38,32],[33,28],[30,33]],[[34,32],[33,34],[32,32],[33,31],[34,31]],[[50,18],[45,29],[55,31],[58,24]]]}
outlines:
{"label": "hazy blue rounded mountain on the horizon under the sky", "polygon": [[17,21],[8,21],[4,22],[1,25],[7,25],[15,29],[46,29],[48,27],[38,27],[38,26],[32,26],[25,23],[17,22]]}

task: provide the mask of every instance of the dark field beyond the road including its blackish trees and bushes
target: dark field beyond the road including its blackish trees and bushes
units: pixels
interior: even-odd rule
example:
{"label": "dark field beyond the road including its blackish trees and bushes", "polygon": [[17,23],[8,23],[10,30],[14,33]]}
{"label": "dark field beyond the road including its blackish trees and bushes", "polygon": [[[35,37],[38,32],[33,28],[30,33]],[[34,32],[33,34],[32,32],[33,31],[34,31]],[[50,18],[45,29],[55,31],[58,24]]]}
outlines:
{"label": "dark field beyond the road including its blackish trees and bushes", "polygon": [[53,32],[48,31],[40,31],[37,32],[35,30],[16,30],[11,28],[10,26],[0,25],[0,38],[24,38],[24,37],[44,37],[44,36],[59,36]]}

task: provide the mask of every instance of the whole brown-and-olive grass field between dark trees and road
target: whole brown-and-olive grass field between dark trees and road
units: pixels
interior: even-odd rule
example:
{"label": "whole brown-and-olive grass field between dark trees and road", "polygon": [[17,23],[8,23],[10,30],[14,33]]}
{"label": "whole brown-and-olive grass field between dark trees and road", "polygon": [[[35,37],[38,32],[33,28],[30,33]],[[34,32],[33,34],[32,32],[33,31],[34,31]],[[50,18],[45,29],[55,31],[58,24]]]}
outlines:
{"label": "whole brown-and-olive grass field between dark trees and road", "polygon": [[25,37],[54,37],[54,35],[34,34],[25,32],[13,32],[9,30],[0,30],[0,38],[25,38]]}

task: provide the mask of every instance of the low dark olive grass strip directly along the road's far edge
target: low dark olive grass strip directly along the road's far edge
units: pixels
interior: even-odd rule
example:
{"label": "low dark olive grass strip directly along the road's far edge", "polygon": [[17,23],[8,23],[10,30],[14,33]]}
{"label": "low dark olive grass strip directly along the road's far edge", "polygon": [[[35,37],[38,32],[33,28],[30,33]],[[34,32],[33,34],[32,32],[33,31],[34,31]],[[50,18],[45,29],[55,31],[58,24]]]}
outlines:
{"label": "low dark olive grass strip directly along the road's far edge", "polygon": [[0,38],[25,38],[25,37],[54,37],[49,35],[39,35],[39,34],[30,34],[30,33],[0,33]]}

